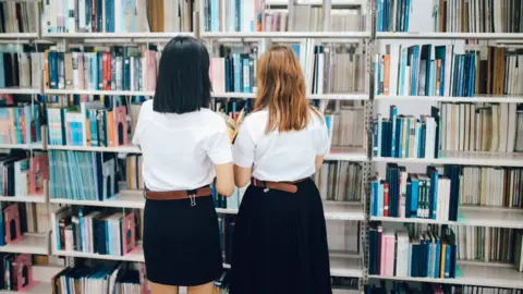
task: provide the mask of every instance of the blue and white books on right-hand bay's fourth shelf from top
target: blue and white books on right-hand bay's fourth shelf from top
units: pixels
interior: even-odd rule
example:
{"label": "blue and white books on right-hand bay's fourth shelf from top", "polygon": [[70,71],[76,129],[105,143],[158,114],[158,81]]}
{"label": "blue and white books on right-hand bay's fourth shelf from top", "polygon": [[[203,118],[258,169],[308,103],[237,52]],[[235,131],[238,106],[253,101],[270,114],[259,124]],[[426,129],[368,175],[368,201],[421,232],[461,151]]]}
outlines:
{"label": "blue and white books on right-hand bay's fourth shelf from top", "polygon": [[385,180],[370,182],[370,215],[392,218],[458,220],[460,166],[428,167],[426,174],[387,164]]}

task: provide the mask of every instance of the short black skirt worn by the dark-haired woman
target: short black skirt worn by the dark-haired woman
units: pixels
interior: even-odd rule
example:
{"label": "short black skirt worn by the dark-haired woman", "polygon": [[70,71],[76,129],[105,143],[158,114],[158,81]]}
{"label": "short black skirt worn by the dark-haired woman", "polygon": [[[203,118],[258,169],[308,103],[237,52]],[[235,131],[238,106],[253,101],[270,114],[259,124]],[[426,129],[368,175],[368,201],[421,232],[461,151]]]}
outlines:
{"label": "short black skirt worn by the dark-haired woman", "polygon": [[146,200],[144,256],[147,279],[178,286],[200,285],[223,272],[218,216],[212,197]]}

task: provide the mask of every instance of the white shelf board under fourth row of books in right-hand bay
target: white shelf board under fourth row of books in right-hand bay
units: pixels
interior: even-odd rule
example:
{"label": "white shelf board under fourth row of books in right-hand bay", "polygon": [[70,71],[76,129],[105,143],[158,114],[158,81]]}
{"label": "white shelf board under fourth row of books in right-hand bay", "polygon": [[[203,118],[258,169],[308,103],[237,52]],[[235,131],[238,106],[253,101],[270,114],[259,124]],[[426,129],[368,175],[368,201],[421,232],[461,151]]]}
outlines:
{"label": "white shelf board under fourth row of books in right-hand bay", "polygon": [[370,217],[372,221],[455,224],[491,228],[523,229],[523,210],[499,207],[461,206],[458,221],[438,221],[433,219]]}

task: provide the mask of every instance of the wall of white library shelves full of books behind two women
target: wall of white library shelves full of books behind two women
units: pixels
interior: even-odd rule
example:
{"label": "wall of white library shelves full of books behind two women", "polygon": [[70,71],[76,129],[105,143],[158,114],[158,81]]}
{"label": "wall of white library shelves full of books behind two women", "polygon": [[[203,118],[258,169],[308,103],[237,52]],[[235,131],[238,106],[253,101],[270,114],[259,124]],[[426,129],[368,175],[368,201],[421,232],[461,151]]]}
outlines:
{"label": "wall of white library shelves full of books behind two women", "polygon": [[[182,35],[232,131],[258,57],[299,58],[332,146],[314,180],[333,293],[523,293],[519,0],[0,1],[0,293],[148,293],[131,138]],[[245,188],[212,194],[215,293]]]}

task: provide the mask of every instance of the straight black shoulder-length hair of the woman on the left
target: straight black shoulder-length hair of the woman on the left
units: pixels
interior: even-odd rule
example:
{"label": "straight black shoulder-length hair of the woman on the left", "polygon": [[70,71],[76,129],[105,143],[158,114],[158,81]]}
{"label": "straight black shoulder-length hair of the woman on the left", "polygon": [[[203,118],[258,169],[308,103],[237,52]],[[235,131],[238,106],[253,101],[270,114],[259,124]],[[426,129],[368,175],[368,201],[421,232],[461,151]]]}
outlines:
{"label": "straight black shoulder-length hair of the woman on the left", "polygon": [[155,111],[181,114],[209,107],[209,53],[202,41],[186,36],[171,39],[159,66]]}

